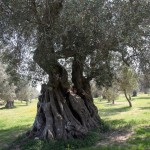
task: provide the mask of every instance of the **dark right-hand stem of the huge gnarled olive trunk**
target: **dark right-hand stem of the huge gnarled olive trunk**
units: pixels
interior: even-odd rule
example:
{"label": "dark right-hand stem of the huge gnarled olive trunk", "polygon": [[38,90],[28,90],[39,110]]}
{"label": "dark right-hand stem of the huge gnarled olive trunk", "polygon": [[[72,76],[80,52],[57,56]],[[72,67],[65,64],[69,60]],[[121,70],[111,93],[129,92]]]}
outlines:
{"label": "dark right-hand stem of the huge gnarled olive trunk", "polygon": [[85,57],[74,57],[72,64],[72,83],[77,90],[77,94],[84,100],[91,117],[95,122],[100,122],[98,110],[93,103],[90,81],[83,76],[83,66]]}

